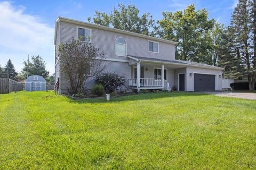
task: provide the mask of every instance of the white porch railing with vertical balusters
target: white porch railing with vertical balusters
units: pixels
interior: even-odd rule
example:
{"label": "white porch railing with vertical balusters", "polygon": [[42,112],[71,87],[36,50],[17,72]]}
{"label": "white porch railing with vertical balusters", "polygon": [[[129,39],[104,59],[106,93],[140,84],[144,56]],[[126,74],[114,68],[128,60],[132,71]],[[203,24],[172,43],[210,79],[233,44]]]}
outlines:
{"label": "white porch railing with vertical balusters", "polygon": [[[137,79],[129,79],[129,86],[137,86]],[[162,87],[162,79],[141,78],[140,87]],[[169,82],[164,80],[164,87],[169,88]]]}

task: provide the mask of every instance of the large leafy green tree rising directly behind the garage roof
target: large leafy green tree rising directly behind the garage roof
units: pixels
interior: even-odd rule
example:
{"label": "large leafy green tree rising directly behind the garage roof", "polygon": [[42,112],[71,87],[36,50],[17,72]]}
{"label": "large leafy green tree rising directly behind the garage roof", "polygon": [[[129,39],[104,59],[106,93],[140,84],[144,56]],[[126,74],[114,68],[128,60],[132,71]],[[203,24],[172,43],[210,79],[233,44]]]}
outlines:
{"label": "large leafy green tree rising directly behind the garage roof", "polygon": [[157,22],[157,32],[161,38],[178,41],[177,59],[211,64],[209,31],[214,22],[208,19],[205,9],[196,11],[193,4],[183,11],[164,12],[163,19]]}

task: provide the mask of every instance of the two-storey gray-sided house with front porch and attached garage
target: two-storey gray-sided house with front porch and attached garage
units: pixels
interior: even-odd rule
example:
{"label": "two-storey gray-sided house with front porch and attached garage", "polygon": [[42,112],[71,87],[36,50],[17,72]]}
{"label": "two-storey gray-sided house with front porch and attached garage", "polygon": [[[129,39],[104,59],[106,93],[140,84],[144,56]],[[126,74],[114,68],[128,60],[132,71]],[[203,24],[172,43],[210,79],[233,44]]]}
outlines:
{"label": "two-storey gray-sided house with front porch and attached garage", "polygon": [[[222,89],[222,68],[175,60],[176,42],[102,25],[59,17],[55,23],[55,75],[60,94],[69,83],[61,72],[58,46],[73,37],[91,37],[90,43],[106,53],[106,70],[125,75],[133,89],[168,89],[205,91]],[[89,84],[89,88],[93,82]]]}

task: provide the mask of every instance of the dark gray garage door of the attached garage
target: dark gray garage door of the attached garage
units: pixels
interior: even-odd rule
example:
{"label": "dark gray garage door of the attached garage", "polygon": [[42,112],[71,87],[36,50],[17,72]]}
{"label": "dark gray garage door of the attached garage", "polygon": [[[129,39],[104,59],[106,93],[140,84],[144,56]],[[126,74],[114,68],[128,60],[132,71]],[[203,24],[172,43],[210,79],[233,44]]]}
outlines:
{"label": "dark gray garage door of the attached garage", "polygon": [[194,74],[194,91],[214,91],[215,75]]}

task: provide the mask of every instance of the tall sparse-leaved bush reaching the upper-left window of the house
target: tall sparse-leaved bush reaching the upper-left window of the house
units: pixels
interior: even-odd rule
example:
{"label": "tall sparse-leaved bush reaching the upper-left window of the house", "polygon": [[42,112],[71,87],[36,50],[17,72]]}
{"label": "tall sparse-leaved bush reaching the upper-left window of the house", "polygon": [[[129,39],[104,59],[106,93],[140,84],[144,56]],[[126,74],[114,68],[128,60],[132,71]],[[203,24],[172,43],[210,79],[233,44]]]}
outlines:
{"label": "tall sparse-leaved bush reaching the upper-left window of the house", "polygon": [[82,39],[68,41],[59,46],[60,69],[70,82],[70,94],[81,94],[85,81],[99,75],[104,69],[105,53]]}

